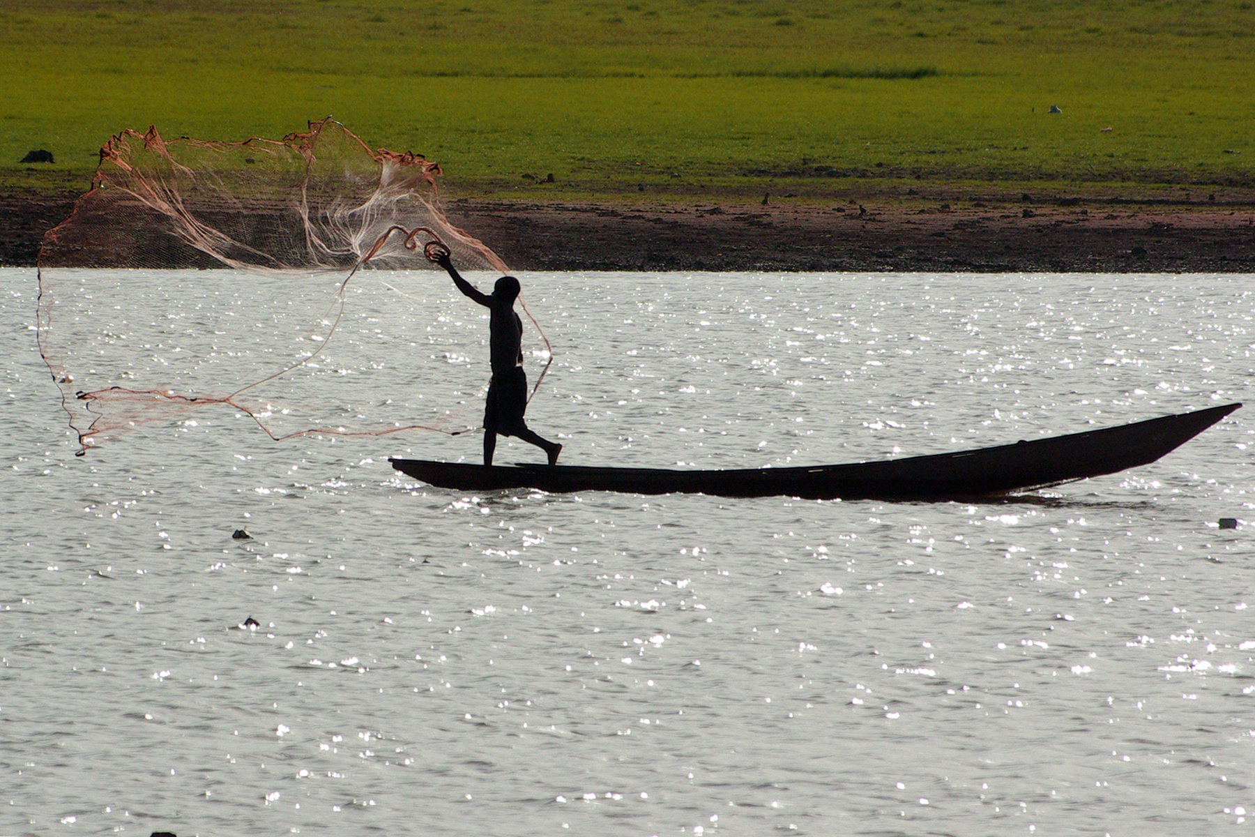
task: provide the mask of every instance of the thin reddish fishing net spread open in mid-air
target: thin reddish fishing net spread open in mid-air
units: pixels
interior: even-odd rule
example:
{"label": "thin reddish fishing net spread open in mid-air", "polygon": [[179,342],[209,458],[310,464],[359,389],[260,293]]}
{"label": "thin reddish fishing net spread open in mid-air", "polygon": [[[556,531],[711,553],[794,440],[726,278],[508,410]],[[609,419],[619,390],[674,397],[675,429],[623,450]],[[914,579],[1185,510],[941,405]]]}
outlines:
{"label": "thin reddish fishing net spread open in mid-air", "polygon": [[331,119],[281,141],[113,137],[39,256],[39,349],[79,453],[231,413],[274,439],[466,429],[487,326],[424,247],[481,284],[507,269],[446,220],[439,173]]}

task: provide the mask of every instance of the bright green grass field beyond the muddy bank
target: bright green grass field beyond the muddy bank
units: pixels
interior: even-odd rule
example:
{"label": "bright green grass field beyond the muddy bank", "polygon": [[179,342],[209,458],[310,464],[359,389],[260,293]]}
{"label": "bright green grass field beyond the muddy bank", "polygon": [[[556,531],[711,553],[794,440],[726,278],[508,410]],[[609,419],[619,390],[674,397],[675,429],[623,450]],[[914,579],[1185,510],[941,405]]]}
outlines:
{"label": "bright green grass field beyond the muddy bank", "polygon": [[[326,114],[438,159],[454,195],[1255,184],[1245,0],[207,5],[0,13],[0,186],[83,188],[122,128],[243,139]],[[56,163],[18,163],[34,148]]]}

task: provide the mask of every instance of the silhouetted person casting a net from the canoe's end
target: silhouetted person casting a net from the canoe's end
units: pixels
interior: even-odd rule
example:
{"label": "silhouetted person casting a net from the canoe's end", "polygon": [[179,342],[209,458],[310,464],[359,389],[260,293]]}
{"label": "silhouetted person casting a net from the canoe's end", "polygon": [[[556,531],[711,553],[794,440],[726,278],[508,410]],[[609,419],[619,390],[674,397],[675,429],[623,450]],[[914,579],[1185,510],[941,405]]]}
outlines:
{"label": "silhouetted person casting a net from the canoe's end", "polygon": [[483,294],[462,279],[449,248],[433,242],[425,247],[428,260],[448,271],[458,290],[488,309],[488,351],[492,360],[492,380],[488,384],[488,403],[483,410],[483,463],[492,464],[492,452],[497,447],[497,434],[513,435],[545,450],[548,463],[557,462],[562,445],[542,439],[523,422],[527,409],[527,375],[523,374],[523,321],[515,312],[518,299],[518,280],[502,276],[492,295]]}

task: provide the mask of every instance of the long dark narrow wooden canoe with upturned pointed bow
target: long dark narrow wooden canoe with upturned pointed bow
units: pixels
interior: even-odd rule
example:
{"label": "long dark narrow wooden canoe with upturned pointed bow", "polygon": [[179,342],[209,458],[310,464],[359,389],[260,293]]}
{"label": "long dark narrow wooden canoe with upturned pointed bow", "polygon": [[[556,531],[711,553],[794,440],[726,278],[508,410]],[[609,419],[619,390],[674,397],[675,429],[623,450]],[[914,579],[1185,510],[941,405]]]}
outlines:
{"label": "long dark narrow wooden canoe with upturned pointed bow", "polygon": [[719,497],[786,494],[809,499],[948,499],[988,497],[1116,473],[1155,462],[1236,410],[1225,404],[1194,413],[996,448],[882,462],[802,468],[676,471],[582,466],[476,466],[390,459],[393,467],[442,488],[547,492],[689,492]]}

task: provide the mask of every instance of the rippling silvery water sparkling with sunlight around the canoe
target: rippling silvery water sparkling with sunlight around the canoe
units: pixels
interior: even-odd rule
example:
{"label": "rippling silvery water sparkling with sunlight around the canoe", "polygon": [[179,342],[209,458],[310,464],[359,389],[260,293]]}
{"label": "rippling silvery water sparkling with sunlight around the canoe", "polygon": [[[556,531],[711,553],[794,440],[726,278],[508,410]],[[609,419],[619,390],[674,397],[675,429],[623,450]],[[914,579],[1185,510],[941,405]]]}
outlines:
{"label": "rippling silvery water sparkling with sunlight around the canoe", "polygon": [[[528,418],[571,464],[1108,427],[1241,400],[1255,351],[1240,276],[522,279],[556,353]],[[1250,408],[983,504],[469,496],[387,457],[476,461],[478,437],[274,443],[227,408],[75,458],[34,272],[0,287],[0,833],[1147,834],[1255,811],[1251,528],[1216,526],[1255,518]],[[468,392],[477,314],[441,326]]]}

